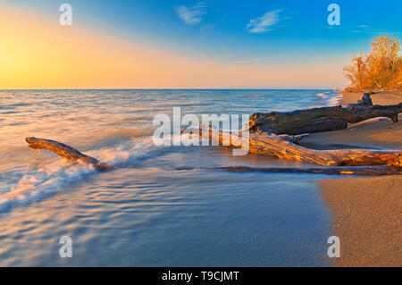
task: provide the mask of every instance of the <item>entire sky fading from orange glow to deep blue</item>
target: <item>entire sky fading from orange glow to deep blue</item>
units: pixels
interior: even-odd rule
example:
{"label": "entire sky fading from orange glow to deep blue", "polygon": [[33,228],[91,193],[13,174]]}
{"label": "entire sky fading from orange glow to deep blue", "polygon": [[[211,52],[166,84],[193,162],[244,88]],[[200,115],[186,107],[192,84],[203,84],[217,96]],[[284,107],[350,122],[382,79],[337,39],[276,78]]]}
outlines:
{"label": "entire sky fading from orange glow to deep blue", "polygon": [[402,1],[333,1],[0,0],[0,88],[343,88]]}

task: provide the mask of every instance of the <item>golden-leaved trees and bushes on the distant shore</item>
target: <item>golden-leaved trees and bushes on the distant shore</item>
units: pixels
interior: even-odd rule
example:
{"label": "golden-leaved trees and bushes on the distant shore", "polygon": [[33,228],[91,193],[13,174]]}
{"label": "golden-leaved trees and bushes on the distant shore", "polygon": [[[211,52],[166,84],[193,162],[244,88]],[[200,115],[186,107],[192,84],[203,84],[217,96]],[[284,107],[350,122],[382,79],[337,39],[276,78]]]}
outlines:
{"label": "golden-leaved trees and bushes on the distant shore", "polygon": [[402,56],[398,55],[397,38],[379,36],[373,39],[372,52],[353,55],[344,67],[350,81],[346,91],[402,90]]}

